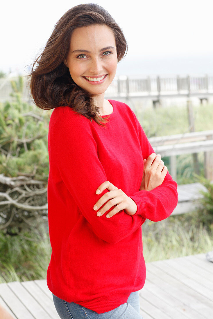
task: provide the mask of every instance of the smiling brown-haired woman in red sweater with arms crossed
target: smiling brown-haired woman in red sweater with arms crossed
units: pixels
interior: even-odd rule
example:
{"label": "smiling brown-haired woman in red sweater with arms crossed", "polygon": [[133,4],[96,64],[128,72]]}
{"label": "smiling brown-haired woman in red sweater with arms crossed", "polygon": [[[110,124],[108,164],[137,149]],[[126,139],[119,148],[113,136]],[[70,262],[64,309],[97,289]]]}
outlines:
{"label": "smiling brown-haired woman in red sweater with arms crossed", "polygon": [[63,319],[142,318],[141,225],[167,218],[177,205],[177,183],[134,112],[104,99],[126,51],[111,15],[80,4],[59,19],[31,73],[35,104],[54,108],[47,285]]}

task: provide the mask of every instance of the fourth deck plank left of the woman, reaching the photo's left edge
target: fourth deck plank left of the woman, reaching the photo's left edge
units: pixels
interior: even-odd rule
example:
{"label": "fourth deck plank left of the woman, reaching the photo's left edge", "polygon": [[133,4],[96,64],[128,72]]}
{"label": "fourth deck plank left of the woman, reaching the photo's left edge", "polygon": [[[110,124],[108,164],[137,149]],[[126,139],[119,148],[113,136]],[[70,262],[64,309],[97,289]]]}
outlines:
{"label": "fourth deck plank left of the woman, reaching the photo's left edge", "polygon": [[0,284],[0,296],[17,319],[35,319],[6,283]]}

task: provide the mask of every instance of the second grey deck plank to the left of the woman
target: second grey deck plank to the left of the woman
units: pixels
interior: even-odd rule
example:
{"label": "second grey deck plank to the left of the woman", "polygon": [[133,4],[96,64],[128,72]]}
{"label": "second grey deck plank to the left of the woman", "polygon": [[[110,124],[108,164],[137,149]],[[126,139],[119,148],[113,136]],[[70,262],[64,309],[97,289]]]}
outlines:
{"label": "second grey deck plank to the left of the woman", "polygon": [[44,309],[48,309],[48,313],[53,319],[59,319],[59,315],[54,306],[53,300],[50,298],[33,282],[23,281],[21,284],[28,290],[29,293],[37,300],[37,302],[43,306]]}

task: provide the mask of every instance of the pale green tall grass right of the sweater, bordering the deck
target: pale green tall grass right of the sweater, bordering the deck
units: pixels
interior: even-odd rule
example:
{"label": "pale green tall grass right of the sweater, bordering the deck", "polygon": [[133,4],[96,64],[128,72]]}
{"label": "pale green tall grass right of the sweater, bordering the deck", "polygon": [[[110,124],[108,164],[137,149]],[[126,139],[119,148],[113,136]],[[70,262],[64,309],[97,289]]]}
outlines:
{"label": "pale green tall grass right of the sweater, bordering the deck", "polygon": [[186,225],[184,220],[188,217],[185,215],[170,216],[157,223],[148,219],[145,221],[142,233],[146,263],[212,250],[212,234],[202,226],[202,223],[197,226],[193,219]]}

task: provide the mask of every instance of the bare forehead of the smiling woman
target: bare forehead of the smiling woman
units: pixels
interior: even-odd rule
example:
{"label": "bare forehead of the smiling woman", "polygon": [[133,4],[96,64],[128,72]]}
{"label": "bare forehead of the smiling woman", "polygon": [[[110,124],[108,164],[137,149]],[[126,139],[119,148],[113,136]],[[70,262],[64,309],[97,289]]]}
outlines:
{"label": "bare forehead of the smiling woman", "polygon": [[88,49],[106,46],[115,47],[115,37],[112,29],[106,25],[92,25],[76,28],[70,39],[70,49]]}

